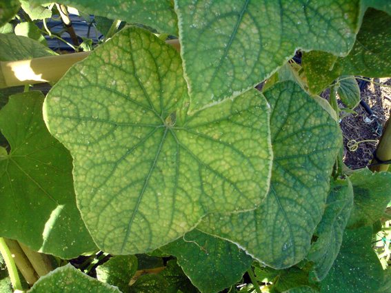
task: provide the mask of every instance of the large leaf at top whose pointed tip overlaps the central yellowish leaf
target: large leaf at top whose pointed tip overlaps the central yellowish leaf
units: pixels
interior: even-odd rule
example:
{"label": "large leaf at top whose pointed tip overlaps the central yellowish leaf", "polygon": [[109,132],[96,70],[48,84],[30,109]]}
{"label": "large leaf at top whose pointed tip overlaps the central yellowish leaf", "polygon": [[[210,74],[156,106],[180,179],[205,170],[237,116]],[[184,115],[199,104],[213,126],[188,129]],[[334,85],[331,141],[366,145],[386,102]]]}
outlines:
{"label": "large leaf at top whose pointed tip overlaps the central yellowish leaf", "polygon": [[298,48],[345,56],[359,0],[175,0],[190,111],[252,88]]}

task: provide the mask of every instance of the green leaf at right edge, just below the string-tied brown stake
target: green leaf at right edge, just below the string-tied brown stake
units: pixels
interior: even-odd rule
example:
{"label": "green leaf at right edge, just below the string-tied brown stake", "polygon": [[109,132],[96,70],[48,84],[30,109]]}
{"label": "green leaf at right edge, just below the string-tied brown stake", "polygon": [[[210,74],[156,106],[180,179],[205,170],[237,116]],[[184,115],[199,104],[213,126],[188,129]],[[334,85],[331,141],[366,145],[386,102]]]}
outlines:
{"label": "green leaf at right edge, just below the string-tied brown stake", "polygon": [[354,206],[347,228],[372,226],[391,201],[391,173],[372,173],[368,169],[350,176],[354,190]]}

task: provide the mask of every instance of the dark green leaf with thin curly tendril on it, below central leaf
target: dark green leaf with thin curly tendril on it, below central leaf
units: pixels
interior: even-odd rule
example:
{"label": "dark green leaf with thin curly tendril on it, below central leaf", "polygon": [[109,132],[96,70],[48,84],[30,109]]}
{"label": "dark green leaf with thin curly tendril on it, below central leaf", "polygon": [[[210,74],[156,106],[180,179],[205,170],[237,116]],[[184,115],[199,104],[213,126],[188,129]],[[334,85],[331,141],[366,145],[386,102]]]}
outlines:
{"label": "dark green leaf with thin curly tendril on it, below central leaf", "polygon": [[240,281],[252,263],[236,245],[197,229],[161,250],[177,256],[183,272],[203,293],[220,292]]}

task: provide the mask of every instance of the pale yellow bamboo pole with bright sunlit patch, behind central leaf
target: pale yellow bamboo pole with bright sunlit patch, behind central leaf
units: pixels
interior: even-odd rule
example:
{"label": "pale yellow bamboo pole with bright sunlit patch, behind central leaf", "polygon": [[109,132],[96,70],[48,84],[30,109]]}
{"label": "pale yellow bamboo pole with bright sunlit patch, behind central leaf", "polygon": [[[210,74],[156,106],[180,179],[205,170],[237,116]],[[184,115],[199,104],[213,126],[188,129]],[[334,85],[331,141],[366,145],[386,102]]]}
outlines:
{"label": "pale yellow bamboo pole with bright sunlit patch, behind central leaf", "polygon": [[[180,50],[178,39],[166,43],[177,51]],[[74,63],[85,59],[90,53],[80,52],[22,61],[0,61],[0,88],[59,81]]]}

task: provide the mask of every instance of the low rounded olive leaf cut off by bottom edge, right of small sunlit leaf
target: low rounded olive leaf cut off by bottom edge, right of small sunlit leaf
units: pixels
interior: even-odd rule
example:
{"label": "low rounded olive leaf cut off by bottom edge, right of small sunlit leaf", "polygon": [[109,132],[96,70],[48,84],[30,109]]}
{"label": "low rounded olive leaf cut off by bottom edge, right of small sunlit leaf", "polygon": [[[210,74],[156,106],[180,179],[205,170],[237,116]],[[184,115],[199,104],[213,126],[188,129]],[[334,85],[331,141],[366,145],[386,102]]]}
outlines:
{"label": "low rounded olive leaf cut off by bottom edge, right of small sunlit leaf", "polygon": [[158,274],[145,274],[129,287],[128,293],[168,293],[168,282]]}

